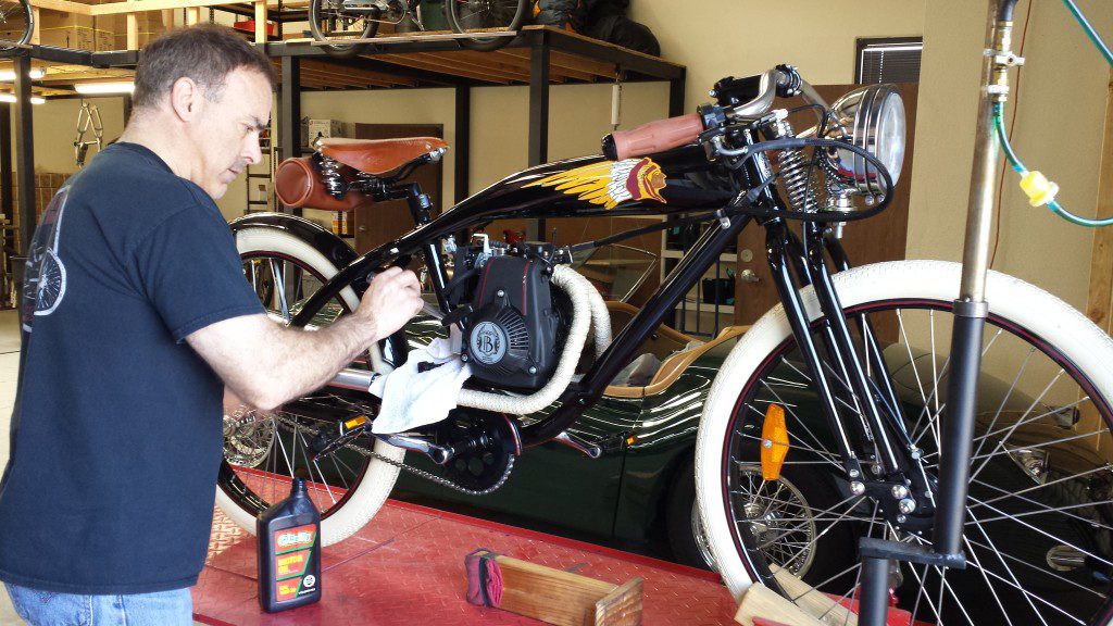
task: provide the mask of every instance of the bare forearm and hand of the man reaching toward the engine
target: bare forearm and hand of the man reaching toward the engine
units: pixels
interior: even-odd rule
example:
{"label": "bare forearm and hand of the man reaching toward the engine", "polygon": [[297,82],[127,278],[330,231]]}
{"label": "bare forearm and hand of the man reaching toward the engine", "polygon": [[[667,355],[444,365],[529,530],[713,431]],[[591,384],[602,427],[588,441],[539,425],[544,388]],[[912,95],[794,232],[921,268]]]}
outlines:
{"label": "bare forearm and hand of the man reaching toward the engine", "polygon": [[375,276],[354,313],[319,331],[282,326],[266,315],[244,315],[205,326],[186,341],[233,393],[267,411],[324,387],[421,307],[417,277],[392,267]]}

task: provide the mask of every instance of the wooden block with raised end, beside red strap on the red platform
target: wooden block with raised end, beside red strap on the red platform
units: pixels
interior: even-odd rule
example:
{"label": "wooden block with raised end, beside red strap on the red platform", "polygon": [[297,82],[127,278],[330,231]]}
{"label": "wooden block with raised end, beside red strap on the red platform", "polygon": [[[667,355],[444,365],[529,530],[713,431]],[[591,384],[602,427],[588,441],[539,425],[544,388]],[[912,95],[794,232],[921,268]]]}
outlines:
{"label": "wooden block with raised end, beside red strap on the red platform", "polygon": [[499,608],[558,626],[641,624],[642,579],[612,585],[579,574],[498,556]]}

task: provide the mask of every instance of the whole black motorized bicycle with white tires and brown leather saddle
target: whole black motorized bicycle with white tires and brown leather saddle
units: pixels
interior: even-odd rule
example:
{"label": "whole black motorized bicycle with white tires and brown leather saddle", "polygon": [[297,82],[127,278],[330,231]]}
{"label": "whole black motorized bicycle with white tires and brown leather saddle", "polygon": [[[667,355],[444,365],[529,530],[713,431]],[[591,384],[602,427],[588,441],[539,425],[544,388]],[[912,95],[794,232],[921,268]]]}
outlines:
{"label": "whole black motorized bicycle with white tires and brown leather saddle", "polygon": [[[993,16],[1011,17],[1013,4],[994,2]],[[861,599],[855,541],[929,552],[951,532],[965,569],[947,569],[961,564],[954,549],[939,549],[951,560],[881,571],[914,619],[1105,624],[1113,340],[1051,294],[985,273],[984,260],[977,297],[965,295],[955,263],[851,267],[841,229],[885,209],[902,168],[904,108],[890,86],[828,105],[795,68],[779,66],[720,80],[712,96],[695,115],[614,133],[602,155],[513,174],[436,217],[427,196],[400,180],[444,154],[440,139],[325,139],[313,156],[284,162],[276,190],[287,206],[405,199],[416,227],[356,257],[290,215],[237,221],[245,274],[275,319],[326,325],[356,306],[376,271],[420,260],[432,287],[427,313],[459,333],[472,379],[447,420],[372,434],[378,401],[366,390],[405,361],[411,342],[400,333],[273,415],[226,417],[221,508],[250,529],[289,476],[308,472],[327,545],[374,516],[405,451],[442,468],[425,478],[474,495],[502,486],[532,446],[556,440],[598,453],[603,442],[571,437],[569,426],[719,251],[742,228],[761,227],[781,304],[716,376],[696,452],[701,517],[728,587],[737,594],[761,581],[819,617],[839,616]],[[778,96],[807,104],[778,109]],[[789,124],[801,111],[815,114],[814,127]],[[984,160],[995,172],[995,155]],[[666,219],[571,246],[470,237],[499,218],[593,215]],[[572,254],[690,223],[709,227],[611,340],[605,304],[567,268]],[[987,385],[1003,392],[982,405],[975,391]],[[800,414],[805,408],[815,414]],[[972,430],[964,439],[953,430],[961,409]],[[956,458],[967,471],[957,496]],[[796,488],[815,480],[829,493],[823,502]],[[957,537],[938,513],[947,507],[961,516]]]}

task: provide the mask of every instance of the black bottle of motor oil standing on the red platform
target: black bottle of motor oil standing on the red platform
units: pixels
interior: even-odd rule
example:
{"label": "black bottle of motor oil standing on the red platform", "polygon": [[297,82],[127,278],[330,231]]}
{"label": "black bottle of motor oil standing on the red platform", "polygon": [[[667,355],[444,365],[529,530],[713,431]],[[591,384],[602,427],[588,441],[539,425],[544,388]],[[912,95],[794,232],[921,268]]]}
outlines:
{"label": "black bottle of motor oil standing on the red platform", "polygon": [[259,606],[276,613],[321,599],[321,513],[294,479],[289,497],[255,522],[259,541]]}

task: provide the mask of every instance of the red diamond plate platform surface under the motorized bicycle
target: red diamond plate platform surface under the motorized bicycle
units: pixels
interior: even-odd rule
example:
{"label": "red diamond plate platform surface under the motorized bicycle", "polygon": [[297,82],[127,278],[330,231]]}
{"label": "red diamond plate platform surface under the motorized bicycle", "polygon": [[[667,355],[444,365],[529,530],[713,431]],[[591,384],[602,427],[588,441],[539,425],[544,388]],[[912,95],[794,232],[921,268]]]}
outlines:
{"label": "red diamond plate platform surface under the motorized bicycle", "polygon": [[268,615],[258,607],[255,538],[217,530],[214,519],[194,610],[238,626],[543,624],[467,604],[463,559],[477,547],[615,585],[641,577],[647,626],[735,624],[733,599],[706,573],[394,501],[353,538],[324,549],[321,603]]}

